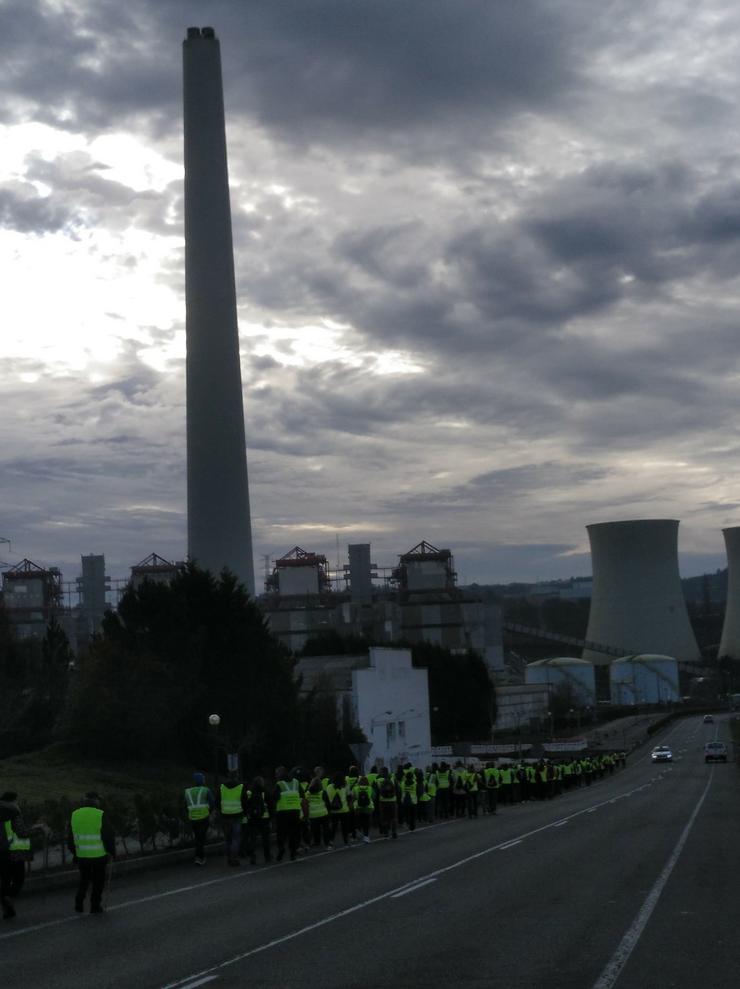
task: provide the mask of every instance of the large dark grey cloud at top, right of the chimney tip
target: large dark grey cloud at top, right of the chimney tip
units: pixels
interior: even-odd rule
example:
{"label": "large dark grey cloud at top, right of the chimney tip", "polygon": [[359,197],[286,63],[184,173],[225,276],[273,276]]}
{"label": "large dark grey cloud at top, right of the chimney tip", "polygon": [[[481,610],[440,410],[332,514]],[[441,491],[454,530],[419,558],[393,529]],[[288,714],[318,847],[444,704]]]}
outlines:
{"label": "large dark grey cloud at top, right of the chimney tip", "polygon": [[256,112],[290,140],[467,130],[551,105],[576,78],[577,21],[531,0],[287,0],[245,8],[245,22]]}

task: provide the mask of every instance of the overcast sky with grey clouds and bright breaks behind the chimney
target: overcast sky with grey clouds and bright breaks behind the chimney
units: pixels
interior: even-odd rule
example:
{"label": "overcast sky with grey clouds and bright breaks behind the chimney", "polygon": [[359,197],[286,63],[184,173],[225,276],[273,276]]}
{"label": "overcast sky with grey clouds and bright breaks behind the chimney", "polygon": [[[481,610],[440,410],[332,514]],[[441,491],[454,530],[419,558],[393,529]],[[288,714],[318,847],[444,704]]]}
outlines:
{"label": "overcast sky with grey clouds and bright breaks behind the chimney", "polygon": [[0,0],[0,544],[186,552],[181,42],[221,39],[255,568],[740,524],[730,0]]}

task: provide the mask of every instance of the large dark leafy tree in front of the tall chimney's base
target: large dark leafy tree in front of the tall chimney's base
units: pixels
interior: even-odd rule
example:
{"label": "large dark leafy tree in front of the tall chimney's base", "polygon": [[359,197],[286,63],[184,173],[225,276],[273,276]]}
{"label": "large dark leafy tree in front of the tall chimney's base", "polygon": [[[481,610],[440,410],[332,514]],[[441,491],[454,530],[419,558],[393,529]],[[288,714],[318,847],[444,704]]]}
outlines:
{"label": "large dark leafy tree in front of the tall chimney's base", "polygon": [[[279,758],[292,747],[298,717],[293,662],[228,571],[214,577],[189,564],[169,584],[145,581],[129,588],[118,611],[106,614],[89,655],[75,692],[74,717],[68,719],[69,730],[87,736],[88,743],[94,732],[85,712],[92,718],[96,698],[129,733],[134,725],[143,729],[111,696],[112,690],[123,690],[131,703],[146,692],[147,723],[162,711],[173,754],[205,758],[211,744],[207,719],[213,713],[221,717],[229,751],[243,751],[251,765]],[[161,736],[156,728],[144,734],[148,745]],[[131,744],[129,737],[125,747]]]}

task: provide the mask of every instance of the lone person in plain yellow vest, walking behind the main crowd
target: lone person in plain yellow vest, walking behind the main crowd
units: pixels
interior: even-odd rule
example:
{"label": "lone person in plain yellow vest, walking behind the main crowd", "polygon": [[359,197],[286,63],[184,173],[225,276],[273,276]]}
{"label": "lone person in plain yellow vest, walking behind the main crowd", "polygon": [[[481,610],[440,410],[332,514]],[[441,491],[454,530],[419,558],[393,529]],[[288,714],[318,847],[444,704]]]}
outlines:
{"label": "lone person in plain yellow vest, walking behind the main crowd", "polygon": [[103,887],[109,859],[116,857],[113,828],[100,808],[97,793],[86,793],[81,806],[72,812],[67,846],[77,861],[80,881],[75,895],[75,910],[83,913],[90,886],[90,913],[103,913]]}

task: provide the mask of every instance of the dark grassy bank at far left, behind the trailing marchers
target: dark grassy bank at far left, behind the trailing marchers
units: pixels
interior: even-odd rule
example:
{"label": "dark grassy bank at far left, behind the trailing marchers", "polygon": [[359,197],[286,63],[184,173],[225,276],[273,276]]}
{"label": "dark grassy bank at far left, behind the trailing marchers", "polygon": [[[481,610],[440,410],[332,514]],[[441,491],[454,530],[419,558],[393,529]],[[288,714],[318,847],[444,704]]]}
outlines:
{"label": "dark grassy bank at far left, behind the trailing marchers", "polygon": [[111,763],[84,758],[70,746],[50,745],[39,752],[0,759],[0,792],[15,790],[21,801],[78,800],[88,790],[130,803],[135,794],[173,797],[190,785],[192,767],[175,763]]}

